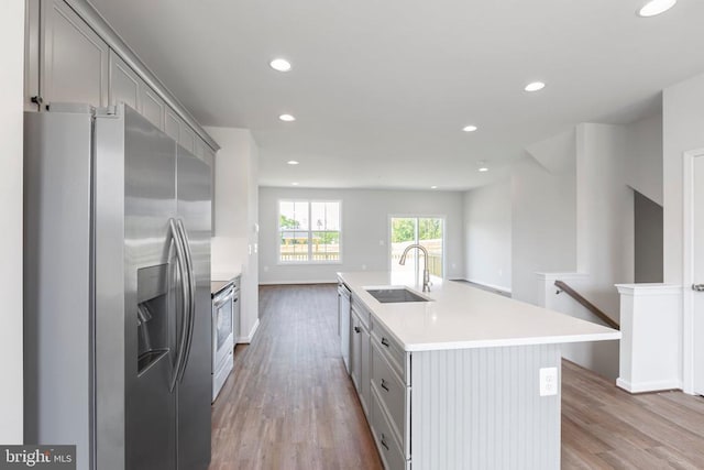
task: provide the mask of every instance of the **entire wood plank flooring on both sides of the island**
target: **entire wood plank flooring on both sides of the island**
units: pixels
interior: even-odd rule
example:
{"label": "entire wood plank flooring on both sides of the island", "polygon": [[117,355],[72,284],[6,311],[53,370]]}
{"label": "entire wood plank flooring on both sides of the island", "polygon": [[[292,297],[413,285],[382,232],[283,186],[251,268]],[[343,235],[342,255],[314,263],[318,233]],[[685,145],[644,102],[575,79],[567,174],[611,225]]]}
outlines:
{"label": "entire wood plank flooring on both sides of the island", "polygon": [[[381,469],[340,357],[334,286],[263,286],[260,321],[213,404],[210,469]],[[704,469],[704,398],[630,395],[563,361],[562,468]]]}

